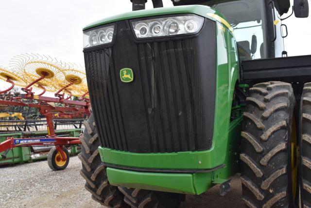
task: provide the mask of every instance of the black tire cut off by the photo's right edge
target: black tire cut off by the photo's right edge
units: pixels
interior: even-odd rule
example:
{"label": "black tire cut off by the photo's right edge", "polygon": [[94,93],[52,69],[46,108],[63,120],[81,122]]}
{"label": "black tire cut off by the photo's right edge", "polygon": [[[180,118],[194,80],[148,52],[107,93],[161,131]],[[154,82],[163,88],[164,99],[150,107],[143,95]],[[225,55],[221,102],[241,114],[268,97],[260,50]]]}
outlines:
{"label": "black tire cut off by the photo's right edge", "polygon": [[300,102],[301,207],[311,208],[311,83],[304,86]]}

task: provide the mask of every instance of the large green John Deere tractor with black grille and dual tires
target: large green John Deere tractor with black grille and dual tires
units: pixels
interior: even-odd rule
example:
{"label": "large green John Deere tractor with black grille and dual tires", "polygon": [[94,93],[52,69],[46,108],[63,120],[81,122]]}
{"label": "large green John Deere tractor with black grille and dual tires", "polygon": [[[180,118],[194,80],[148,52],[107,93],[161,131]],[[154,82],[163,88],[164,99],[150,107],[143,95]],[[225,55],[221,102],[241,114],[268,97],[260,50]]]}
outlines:
{"label": "large green John Deere tractor with black grille and dual tires", "polygon": [[290,0],[146,1],[83,30],[92,198],[175,208],[241,172],[246,206],[311,207],[311,56],[284,50]]}

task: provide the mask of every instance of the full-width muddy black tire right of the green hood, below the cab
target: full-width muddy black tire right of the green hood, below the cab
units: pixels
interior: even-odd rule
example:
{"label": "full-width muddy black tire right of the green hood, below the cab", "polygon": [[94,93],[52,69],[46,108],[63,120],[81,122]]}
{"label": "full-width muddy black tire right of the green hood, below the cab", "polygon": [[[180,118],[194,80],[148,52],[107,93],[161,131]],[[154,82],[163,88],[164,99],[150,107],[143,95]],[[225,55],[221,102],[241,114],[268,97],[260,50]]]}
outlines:
{"label": "full-width muddy black tire right of the green hood, below the cab", "polygon": [[265,82],[249,89],[241,141],[242,199],[251,208],[294,207],[292,85]]}

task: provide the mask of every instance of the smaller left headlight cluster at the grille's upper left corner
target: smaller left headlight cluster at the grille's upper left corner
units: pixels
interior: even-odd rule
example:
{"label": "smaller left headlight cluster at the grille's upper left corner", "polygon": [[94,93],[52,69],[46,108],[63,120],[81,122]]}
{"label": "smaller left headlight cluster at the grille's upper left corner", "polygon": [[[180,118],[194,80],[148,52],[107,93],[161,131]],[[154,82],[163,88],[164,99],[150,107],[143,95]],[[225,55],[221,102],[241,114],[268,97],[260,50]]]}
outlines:
{"label": "smaller left headlight cluster at the grille's upper left corner", "polygon": [[114,26],[106,26],[83,33],[83,48],[112,42]]}

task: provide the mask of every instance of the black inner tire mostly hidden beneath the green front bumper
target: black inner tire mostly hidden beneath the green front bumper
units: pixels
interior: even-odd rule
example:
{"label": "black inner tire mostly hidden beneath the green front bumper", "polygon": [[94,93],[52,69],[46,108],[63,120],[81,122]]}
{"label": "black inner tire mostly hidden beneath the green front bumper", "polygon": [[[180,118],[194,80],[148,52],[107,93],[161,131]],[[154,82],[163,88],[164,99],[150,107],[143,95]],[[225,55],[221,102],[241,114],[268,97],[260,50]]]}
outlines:
{"label": "black inner tire mostly hidden beneath the green front bumper", "polygon": [[132,208],[178,208],[185,194],[119,187]]}

